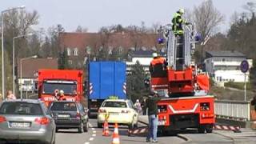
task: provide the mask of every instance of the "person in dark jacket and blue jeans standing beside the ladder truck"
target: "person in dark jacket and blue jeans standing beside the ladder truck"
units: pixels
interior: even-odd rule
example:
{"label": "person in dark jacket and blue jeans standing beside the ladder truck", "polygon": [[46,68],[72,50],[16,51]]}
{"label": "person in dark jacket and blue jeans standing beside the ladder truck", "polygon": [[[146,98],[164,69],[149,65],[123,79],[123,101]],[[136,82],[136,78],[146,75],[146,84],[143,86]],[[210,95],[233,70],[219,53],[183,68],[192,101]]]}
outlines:
{"label": "person in dark jacket and blue jeans standing beside the ladder truck", "polygon": [[158,134],[158,101],[160,98],[158,97],[158,93],[156,91],[151,91],[150,96],[146,99],[146,107],[148,108],[148,118],[149,132],[146,137],[146,142],[150,142],[150,138],[152,138],[152,142],[158,142],[157,134]]}

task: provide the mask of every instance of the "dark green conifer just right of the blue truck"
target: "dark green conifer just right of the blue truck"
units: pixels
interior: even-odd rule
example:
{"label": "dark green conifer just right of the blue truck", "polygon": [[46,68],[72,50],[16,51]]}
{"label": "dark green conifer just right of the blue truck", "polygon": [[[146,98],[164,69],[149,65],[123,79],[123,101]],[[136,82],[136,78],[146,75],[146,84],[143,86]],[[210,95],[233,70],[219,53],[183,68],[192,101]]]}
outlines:
{"label": "dark green conifer just right of the blue truck", "polygon": [[146,74],[143,66],[137,61],[136,64],[131,67],[131,74],[127,76],[127,94],[133,102],[135,102],[136,99],[141,99],[143,94],[145,94],[145,78]]}

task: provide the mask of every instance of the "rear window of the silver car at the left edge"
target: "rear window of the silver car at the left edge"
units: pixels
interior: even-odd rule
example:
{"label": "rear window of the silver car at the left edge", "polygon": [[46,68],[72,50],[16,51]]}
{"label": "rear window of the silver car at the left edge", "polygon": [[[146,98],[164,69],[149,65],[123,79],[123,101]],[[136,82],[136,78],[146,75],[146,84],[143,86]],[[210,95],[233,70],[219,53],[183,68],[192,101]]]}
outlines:
{"label": "rear window of the silver car at the left edge", "polygon": [[0,114],[42,115],[42,108],[38,103],[4,102],[0,108]]}

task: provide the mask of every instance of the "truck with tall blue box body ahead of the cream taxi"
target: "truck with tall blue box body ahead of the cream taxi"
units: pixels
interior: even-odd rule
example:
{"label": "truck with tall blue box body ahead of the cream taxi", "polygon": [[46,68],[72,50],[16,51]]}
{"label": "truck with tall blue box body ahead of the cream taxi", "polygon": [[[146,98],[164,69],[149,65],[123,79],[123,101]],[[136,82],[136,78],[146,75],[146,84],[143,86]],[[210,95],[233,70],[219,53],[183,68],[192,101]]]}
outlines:
{"label": "truck with tall blue box body ahead of the cream taxi", "polygon": [[126,99],[126,63],[90,62],[88,76],[89,116],[97,116],[98,108],[110,96]]}

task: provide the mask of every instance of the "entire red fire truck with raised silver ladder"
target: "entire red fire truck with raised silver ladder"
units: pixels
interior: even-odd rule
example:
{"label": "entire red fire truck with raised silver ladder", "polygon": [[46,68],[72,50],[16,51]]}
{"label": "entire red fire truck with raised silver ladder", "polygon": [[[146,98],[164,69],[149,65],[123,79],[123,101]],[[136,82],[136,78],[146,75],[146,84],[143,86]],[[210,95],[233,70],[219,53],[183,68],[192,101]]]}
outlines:
{"label": "entire red fire truck with raised silver ladder", "polygon": [[[170,26],[169,26],[170,27]],[[151,73],[151,90],[162,96],[158,102],[158,130],[198,128],[211,133],[214,118],[214,96],[208,95],[209,78],[192,64],[195,48],[193,26],[184,27],[184,34],[175,35],[171,28],[166,35],[168,66],[162,74]]]}

